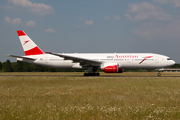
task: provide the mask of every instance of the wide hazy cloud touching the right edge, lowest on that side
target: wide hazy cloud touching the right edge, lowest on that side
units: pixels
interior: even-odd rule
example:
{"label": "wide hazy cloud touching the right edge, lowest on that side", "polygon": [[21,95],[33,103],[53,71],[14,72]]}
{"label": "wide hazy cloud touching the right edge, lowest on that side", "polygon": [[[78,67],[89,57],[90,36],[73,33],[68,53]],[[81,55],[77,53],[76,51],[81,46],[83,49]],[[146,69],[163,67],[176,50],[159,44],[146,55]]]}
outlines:
{"label": "wide hazy cloud touching the right edge, lowest on that side", "polygon": [[133,29],[133,33],[141,37],[156,39],[180,39],[180,18],[172,20],[172,22],[161,23],[144,23],[140,27]]}

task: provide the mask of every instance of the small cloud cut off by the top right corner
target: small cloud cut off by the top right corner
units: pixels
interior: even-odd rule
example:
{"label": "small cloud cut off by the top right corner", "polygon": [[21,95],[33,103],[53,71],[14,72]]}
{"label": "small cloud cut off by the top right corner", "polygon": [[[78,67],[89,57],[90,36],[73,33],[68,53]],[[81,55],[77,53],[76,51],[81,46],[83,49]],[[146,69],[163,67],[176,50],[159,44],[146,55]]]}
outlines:
{"label": "small cloud cut off by the top right corner", "polygon": [[180,7],[180,0],[154,0],[158,3],[162,3],[162,4],[173,4],[174,7]]}

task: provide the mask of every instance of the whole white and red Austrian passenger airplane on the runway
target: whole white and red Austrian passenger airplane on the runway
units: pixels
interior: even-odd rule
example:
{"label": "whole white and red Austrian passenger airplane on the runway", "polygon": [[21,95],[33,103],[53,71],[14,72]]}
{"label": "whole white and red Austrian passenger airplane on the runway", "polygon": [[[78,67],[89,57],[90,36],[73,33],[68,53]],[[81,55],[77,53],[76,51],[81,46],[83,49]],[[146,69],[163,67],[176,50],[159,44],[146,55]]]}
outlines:
{"label": "whole white and red Austrian passenger airplane on the runway", "polygon": [[61,69],[85,69],[84,76],[123,73],[124,69],[159,69],[175,64],[168,56],[155,53],[53,53],[43,52],[22,30],[18,30],[25,56],[7,55],[18,61]]}

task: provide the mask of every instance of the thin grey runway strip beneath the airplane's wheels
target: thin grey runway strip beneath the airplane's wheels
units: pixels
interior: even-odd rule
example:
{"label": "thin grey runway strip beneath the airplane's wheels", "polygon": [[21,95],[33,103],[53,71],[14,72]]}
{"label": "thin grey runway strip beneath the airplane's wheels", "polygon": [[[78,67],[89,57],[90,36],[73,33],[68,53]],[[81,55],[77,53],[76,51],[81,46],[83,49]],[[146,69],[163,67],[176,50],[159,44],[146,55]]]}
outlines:
{"label": "thin grey runway strip beneath the airplane's wheels", "polygon": [[134,78],[134,77],[151,77],[151,78],[162,78],[162,77],[172,77],[172,78],[179,78],[180,76],[117,76],[117,75],[101,75],[101,76],[83,76],[83,75],[0,75],[0,77],[129,77],[129,78]]}

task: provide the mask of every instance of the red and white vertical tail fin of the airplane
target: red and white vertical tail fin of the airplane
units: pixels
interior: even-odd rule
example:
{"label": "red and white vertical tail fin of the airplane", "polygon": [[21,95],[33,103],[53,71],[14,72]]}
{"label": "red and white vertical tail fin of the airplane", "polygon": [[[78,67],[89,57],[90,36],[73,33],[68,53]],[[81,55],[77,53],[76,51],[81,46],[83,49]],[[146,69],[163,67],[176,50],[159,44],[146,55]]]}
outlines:
{"label": "red and white vertical tail fin of the airplane", "polygon": [[26,56],[44,54],[44,52],[31,40],[31,38],[29,38],[29,36],[27,36],[24,31],[18,30],[17,34]]}

